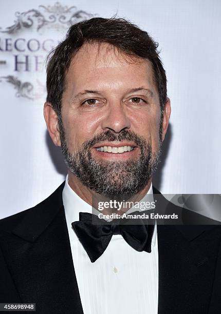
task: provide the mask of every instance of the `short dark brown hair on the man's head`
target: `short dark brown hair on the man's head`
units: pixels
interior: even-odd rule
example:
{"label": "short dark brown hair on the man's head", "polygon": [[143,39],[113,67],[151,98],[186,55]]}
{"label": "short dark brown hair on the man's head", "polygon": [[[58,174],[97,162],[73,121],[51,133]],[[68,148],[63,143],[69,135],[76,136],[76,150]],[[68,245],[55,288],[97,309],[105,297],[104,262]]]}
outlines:
{"label": "short dark brown hair on the man's head", "polygon": [[86,42],[108,43],[128,56],[149,60],[152,64],[162,112],[167,99],[167,78],[157,51],[158,44],[147,32],[123,18],[94,17],[72,25],[66,39],[49,55],[47,101],[52,104],[60,117],[66,71],[72,57]]}

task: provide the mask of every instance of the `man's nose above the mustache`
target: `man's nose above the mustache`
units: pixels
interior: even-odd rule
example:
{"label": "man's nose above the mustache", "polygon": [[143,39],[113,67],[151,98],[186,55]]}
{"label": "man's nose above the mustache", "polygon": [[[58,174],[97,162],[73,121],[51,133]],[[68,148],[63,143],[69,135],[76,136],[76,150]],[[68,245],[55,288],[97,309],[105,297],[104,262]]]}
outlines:
{"label": "man's nose above the mustache", "polygon": [[120,133],[123,129],[130,129],[131,123],[122,104],[109,106],[101,127],[103,130],[112,130],[115,133]]}

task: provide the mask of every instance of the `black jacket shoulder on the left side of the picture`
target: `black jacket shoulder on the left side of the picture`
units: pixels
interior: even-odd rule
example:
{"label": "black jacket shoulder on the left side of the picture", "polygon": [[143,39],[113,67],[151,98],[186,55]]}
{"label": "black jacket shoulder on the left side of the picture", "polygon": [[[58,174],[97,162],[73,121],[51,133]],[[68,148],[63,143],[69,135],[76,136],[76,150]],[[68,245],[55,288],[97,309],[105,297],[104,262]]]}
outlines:
{"label": "black jacket shoulder on the left side of the picture", "polygon": [[62,191],[64,188],[65,182],[63,182],[47,199],[42,201],[41,203],[31,207],[29,209],[23,210],[19,213],[13,214],[9,217],[3,218],[0,220],[0,230],[9,231],[13,230],[17,224],[22,222],[27,217],[29,219],[36,218],[41,215],[44,217],[44,214],[50,211],[53,207],[61,207],[63,205],[62,202]]}

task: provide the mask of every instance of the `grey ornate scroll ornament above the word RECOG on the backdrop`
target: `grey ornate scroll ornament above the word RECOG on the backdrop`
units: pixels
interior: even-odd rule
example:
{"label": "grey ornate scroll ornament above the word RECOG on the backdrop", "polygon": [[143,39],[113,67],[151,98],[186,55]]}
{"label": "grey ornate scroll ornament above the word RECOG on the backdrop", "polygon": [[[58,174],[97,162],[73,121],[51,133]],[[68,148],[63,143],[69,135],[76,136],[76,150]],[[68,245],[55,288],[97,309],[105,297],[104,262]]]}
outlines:
{"label": "grey ornate scroll ornament above the word RECOG on the backdrop", "polygon": [[33,29],[39,32],[43,28],[67,29],[73,24],[92,17],[86,11],[78,10],[76,7],[62,6],[56,2],[53,6],[39,6],[39,9],[31,9],[25,12],[16,12],[16,20],[12,26],[0,32],[14,34],[22,29]]}

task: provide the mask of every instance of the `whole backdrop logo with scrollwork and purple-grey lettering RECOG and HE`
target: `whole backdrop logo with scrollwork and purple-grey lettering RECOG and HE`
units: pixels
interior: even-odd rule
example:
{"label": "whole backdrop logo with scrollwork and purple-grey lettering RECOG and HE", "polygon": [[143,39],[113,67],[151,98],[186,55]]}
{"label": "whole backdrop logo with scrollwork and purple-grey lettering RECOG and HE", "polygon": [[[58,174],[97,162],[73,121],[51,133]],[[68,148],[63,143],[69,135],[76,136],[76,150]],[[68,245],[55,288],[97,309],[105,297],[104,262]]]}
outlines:
{"label": "whole backdrop logo with scrollwork and purple-grey lettering RECOG and HE", "polygon": [[0,27],[1,84],[14,87],[17,97],[29,100],[45,98],[46,56],[63,40],[71,25],[92,16],[59,2],[16,12],[12,26]]}

